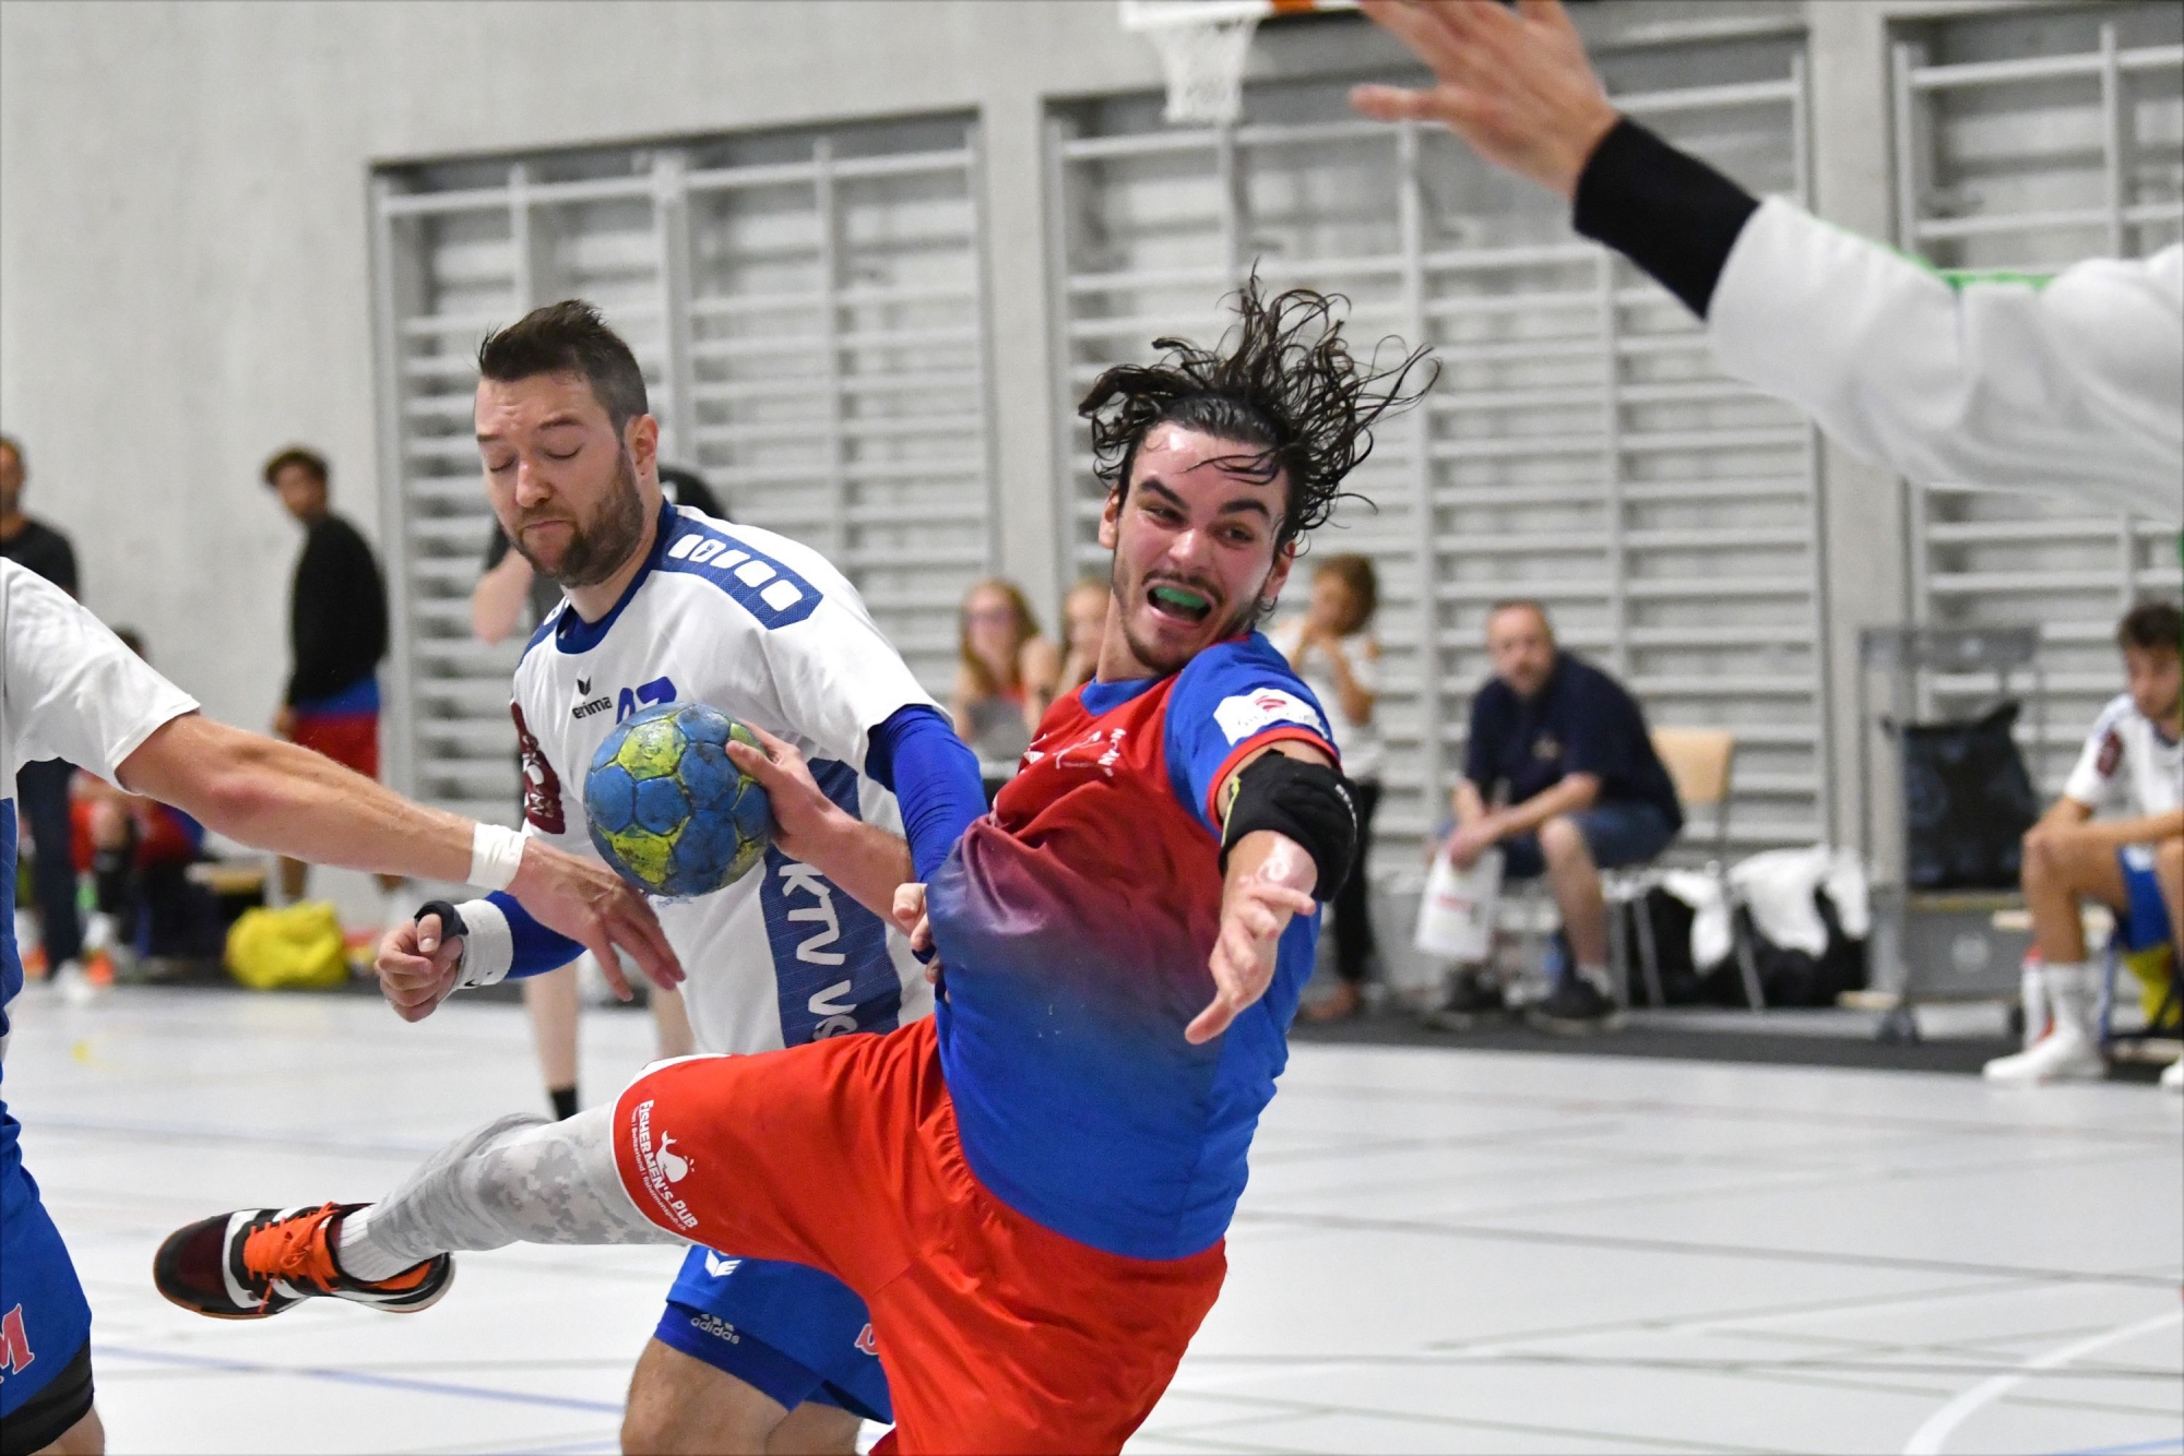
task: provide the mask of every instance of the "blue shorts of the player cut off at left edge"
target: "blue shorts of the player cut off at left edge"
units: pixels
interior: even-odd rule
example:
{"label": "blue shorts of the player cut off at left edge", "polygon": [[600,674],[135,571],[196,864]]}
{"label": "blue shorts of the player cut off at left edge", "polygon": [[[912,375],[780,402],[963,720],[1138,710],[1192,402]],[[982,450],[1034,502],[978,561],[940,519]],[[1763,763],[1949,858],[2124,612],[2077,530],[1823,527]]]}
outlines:
{"label": "blue shorts of the player cut off at left edge", "polygon": [[76,1266],[15,1150],[20,1126],[0,1102],[0,1419],[44,1391],[92,1338]]}

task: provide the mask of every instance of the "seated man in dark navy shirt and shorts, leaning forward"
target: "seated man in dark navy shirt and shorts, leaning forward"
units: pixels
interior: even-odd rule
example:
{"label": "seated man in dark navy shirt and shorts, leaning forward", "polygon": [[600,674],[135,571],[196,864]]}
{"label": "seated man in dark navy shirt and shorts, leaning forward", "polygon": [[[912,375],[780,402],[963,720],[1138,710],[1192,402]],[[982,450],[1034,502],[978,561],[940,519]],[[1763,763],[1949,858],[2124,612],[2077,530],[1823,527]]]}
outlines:
{"label": "seated man in dark navy shirt and shorts, leaning forward", "polygon": [[[1533,1009],[1533,1022],[1546,1030],[1599,1028],[1614,1009],[1603,995],[1607,904],[1599,871],[1658,856],[1684,827],[1684,810],[1638,703],[1612,677],[1555,646],[1540,602],[1496,602],[1487,613],[1487,655],[1494,679],[1472,699],[1448,851],[1459,869],[1470,869],[1498,845],[1505,878],[1546,875],[1570,960],[1553,995]],[[1459,1019],[1483,1000],[1489,998],[1476,982],[1459,978],[1446,1011]]]}

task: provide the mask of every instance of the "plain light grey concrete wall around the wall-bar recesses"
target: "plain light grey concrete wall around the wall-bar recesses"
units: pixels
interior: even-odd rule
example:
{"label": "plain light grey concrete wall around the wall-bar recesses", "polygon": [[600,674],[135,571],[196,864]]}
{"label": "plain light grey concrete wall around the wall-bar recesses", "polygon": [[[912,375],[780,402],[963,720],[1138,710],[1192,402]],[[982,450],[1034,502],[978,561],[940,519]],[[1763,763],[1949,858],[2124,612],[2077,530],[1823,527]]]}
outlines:
{"label": "plain light grey concrete wall around the wall-bar recesses", "polygon": [[[1996,4],[1806,4],[1824,214],[1889,231],[1887,20],[1961,9]],[[1629,35],[1736,13],[1610,0],[1581,20]],[[1256,65],[1393,61],[1378,35],[1308,26]],[[258,725],[297,546],[258,463],[319,445],[339,509],[378,528],[371,164],[976,109],[1005,563],[1051,600],[1042,109],[1158,81],[1107,0],[9,0],[0,428],[28,445],[31,509],[76,537],[90,605],[140,626],[216,716]],[[1832,447],[1826,489],[1848,832],[1850,626],[1902,600],[1902,528],[1896,482]]]}

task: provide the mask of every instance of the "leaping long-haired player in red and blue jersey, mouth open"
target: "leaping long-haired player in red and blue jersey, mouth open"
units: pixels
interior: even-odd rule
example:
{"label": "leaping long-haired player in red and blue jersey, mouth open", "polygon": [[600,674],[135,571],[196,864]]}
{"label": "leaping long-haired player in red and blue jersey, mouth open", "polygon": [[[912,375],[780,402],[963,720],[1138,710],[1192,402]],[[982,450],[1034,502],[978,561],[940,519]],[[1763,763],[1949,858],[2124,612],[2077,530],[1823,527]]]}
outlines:
{"label": "leaping long-haired player in red and blue jersey, mouth open", "polygon": [[[1372,423],[1431,384],[1422,351],[1376,371],[1334,301],[1256,282],[1221,349],[1155,347],[1079,410],[1109,489],[1099,672],[893,893],[937,952],[930,1019],[505,1118],[382,1203],[299,1209],[293,1240],[264,1209],[205,1218],[162,1246],[162,1290],[384,1308],[373,1281],[461,1249],[695,1242],[856,1290],[904,1452],[1118,1449],[1221,1292],[1317,902],[1358,851],[1321,707],[1256,624]],[[839,810],[780,740],[738,753],[826,871]]]}

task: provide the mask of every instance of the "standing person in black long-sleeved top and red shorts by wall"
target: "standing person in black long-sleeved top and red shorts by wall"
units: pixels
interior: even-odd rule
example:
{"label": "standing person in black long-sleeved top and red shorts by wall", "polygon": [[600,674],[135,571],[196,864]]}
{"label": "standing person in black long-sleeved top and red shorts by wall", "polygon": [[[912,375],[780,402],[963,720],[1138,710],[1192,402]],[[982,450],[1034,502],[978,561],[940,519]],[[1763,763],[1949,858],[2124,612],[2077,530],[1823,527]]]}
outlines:
{"label": "standing person in black long-sleeved top and red shorts by wall", "polygon": [[[325,456],[290,445],[264,465],[264,480],[304,526],[304,554],[288,589],[295,670],[273,716],[273,736],[312,749],[367,779],[380,777],[380,659],[387,657],[387,581],[365,537],[328,506]],[[282,860],[282,897],[297,902],[310,880],[304,860]],[[402,875],[378,875],[382,923],[404,906]]]}

